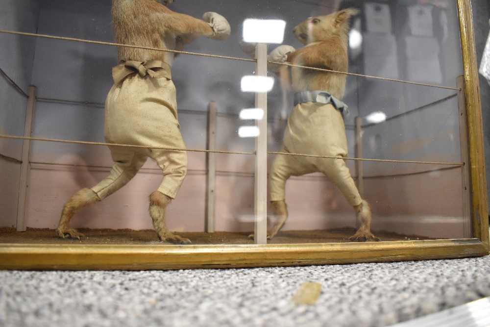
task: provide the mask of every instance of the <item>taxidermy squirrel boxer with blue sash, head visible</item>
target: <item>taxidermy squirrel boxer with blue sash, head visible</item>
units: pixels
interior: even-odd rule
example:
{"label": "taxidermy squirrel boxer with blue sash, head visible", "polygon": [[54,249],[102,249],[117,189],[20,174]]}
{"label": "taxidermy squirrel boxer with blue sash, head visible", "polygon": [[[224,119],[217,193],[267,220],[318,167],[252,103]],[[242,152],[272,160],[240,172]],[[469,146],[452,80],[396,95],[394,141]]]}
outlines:
{"label": "taxidermy squirrel boxer with blue sash, head visible", "polygon": [[[291,46],[279,46],[270,52],[268,61],[347,72],[349,19],[357,13],[358,10],[349,8],[327,16],[309,18],[293,29],[294,35],[305,47],[295,50]],[[246,49],[242,44],[242,49],[251,54],[250,47]],[[286,66],[269,64],[269,69],[281,78],[289,79]],[[297,67],[291,68],[291,75],[294,109],[289,115],[284,145],[280,151],[346,157],[343,113],[347,112],[347,106],[342,102],[346,75]],[[369,204],[361,199],[343,159],[284,154],[276,155],[270,168],[270,201],[276,221],[268,238],[272,238],[288,218],[286,180],[290,176],[314,172],[329,177],[354,207],[361,227],[349,239],[358,242],[379,241],[370,231]]]}

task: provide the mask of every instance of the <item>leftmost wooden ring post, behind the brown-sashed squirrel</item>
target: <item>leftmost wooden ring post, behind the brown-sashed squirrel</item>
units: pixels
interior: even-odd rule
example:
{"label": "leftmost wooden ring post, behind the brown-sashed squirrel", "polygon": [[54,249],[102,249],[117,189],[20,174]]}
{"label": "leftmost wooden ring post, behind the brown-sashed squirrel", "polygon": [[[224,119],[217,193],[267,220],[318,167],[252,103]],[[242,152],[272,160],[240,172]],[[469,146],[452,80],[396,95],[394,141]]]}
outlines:
{"label": "leftmost wooden ring post, behind the brown-sashed squirrel", "polygon": [[[24,137],[32,136],[32,121],[36,109],[37,87],[30,85],[27,98],[27,108],[25,110]],[[25,205],[27,200],[27,187],[29,180],[29,154],[30,140],[24,140],[22,144],[22,164],[21,180],[19,184],[19,201],[17,203],[17,231],[25,231]]]}

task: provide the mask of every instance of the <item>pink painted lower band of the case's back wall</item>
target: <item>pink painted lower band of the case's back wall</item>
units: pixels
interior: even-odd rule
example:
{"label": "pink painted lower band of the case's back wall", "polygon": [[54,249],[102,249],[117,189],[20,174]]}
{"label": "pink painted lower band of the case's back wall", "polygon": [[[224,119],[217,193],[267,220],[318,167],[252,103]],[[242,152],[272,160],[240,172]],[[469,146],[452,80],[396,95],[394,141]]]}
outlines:
{"label": "pink painted lower band of the case's back wall", "polygon": [[[105,147],[98,150],[109,152]],[[248,171],[253,156],[220,154],[219,170]],[[168,208],[168,226],[174,231],[203,231],[205,208],[204,158],[190,153],[189,173]],[[272,157],[270,157],[271,159]],[[35,155],[33,162],[84,166],[79,156]],[[107,163],[110,165],[110,163]],[[2,185],[10,185],[0,197],[4,208],[1,226],[16,222],[20,164],[0,161]],[[147,168],[157,168],[149,160]],[[352,169],[351,169],[352,171]],[[26,222],[28,227],[56,228],[63,204],[82,187],[92,187],[107,176],[106,168],[32,164]],[[73,218],[74,227],[152,228],[147,212],[148,195],[161,181],[158,170],[142,170],[120,191],[86,208]],[[440,238],[463,237],[461,170],[447,170],[395,178],[365,180],[365,198],[373,211],[373,230]],[[253,230],[253,177],[218,174],[216,187],[216,230]],[[292,177],[286,187],[290,217],[285,230],[315,230],[355,227],[353,209],[338,189],[320,174]]]}

